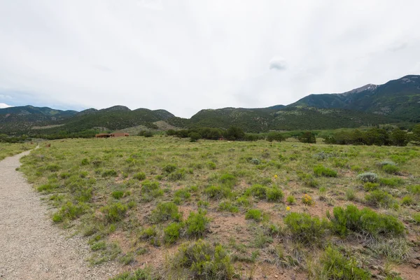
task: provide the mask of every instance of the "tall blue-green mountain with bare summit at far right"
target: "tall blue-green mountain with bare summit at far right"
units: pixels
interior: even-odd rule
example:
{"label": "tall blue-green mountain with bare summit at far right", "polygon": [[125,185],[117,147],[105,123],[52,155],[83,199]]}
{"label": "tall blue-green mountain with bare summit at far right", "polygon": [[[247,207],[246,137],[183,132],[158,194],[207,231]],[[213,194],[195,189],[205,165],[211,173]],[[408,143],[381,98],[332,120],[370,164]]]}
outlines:
{"label": "tall blue-green mountain with bare summit at far right", "polygon": [[365,85],[342,94],[310,94],[288,105],[322,109],[348,109],[420,121],[420,76],[409,75],[384,85]]}

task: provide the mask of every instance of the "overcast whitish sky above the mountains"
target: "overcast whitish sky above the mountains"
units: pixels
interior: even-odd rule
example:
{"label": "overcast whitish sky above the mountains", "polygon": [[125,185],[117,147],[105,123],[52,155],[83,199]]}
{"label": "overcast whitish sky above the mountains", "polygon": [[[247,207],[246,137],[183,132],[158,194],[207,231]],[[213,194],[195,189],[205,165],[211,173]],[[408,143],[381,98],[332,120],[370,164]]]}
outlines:
{"label": "overcast whitish sky above the mountains", "polygon": [[290,104],[420,74],[420,1],[0,0],[0,106]]}

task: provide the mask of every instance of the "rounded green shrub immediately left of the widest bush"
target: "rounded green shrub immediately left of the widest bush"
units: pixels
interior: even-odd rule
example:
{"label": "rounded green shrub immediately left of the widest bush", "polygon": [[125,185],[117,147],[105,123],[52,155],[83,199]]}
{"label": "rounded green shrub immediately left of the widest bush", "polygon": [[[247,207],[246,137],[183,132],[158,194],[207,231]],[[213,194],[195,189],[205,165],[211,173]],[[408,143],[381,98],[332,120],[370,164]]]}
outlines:
{"label": "rounded green shrub immediately left of the widest bush", "polygon": [[292,212],[284,218],[284,223],[293,239],[304,244],[317,244],[325,235],[326,221],[311,218],[308,214]]}

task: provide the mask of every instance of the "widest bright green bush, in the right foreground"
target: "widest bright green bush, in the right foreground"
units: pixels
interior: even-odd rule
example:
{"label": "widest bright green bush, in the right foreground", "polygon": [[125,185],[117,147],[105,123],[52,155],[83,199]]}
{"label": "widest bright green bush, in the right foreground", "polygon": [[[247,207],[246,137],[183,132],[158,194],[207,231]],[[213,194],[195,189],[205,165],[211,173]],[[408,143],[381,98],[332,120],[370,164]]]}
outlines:
{"label": "widest bright green bush, in the right foreground", "polygon": [[[399,236],[405,231],[404,225],[397,218],[377,214],[369,208],[359,210],[354,205],[346,209],[334,207],[333,217],[330,217],[332,229],[339,235],[348,235],[349,231],[368,233],[374,237],[378,235]],[[329,214],[328,214],[329,216]]]}

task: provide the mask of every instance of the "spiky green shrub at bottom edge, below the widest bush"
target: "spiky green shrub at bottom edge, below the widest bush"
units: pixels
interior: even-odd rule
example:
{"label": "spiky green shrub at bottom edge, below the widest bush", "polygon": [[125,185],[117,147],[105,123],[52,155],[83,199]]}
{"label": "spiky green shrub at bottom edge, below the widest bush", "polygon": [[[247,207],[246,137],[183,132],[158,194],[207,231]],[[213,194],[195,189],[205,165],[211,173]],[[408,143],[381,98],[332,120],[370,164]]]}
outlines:
{"label": "spiky green shrub at bottom edge, below the widest bush", "polygon": [[321,255],[319,279],[369,280],[370,272],[360,268],[356,258],[346,258],[336,248],[328,246]]}

